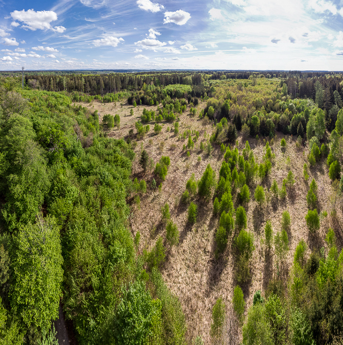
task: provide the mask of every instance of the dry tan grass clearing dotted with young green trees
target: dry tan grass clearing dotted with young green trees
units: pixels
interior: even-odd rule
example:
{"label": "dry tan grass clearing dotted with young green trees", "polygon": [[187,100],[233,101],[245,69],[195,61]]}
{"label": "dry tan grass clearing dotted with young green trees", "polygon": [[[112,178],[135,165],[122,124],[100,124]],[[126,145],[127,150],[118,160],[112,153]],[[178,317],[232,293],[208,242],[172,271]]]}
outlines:
{"label": "dry tan grass clearing dotted with young green trees", "polygon": [[[84,104],[90,109],[97,109],[100,117],[104,114],[119,114],[120,129],[112,129],[108,136],[113,138],[128,138],[129,130],[134,129],[133,140],[135,139],[135,122],[140,119],[144,106],[137,106],[134,115],[130,116],[131,105],[121,106],[117,104]],[[145,106],[148,110],[156,109],[157,106]],[[133,200],[132,213],[130,216],[131,231],[133,236],[139,231],[140,243],[139,252],[151,248],[159,236],[165,238],[165,225],[162,223],[161,207],[169,204],[171,220],[177,224],[180,232],[179,244],[168,247],[166,244],[166,262],[162,267],[162,275],[171,289],[181,302],[182,309],[186,316],[187,340],[191,343],[197,335],[201,335],[205,344],[210,343],[209,330],[211,323],[212,307],[217,298],[222,297],[227,306],[227,313],[231,313],[231,300],[233,290],[236,285],[235,280],[235,257],[233,248],[233,236],[229,239],[224,254],[215,257],[215,233],[218,226],[218,216],[212,215],[213,200],[204,202],[200,198],[195,199],[198,205],[197,222],[190,226],[187,223],[187,207],[180,203],[181,194],[185,190],[186,181],[195,174],[199,180],[204,173],[207,164],[210,164],[219,175],[219,169],[223,161],[223,153],[217,145],[213,145],[212,152],[208,155],[200,150],[200,142],[204,143],[209,138],[214,127],[204,126],[203,121],[198,118],[199,109],[205,107],[205,103],[197,107],[197,115],[189,116],[187,111],[179,115],[179,133],[190,129],[199,131],[199,139],[195,142],[195,147],[190,151],[190,157],[186,155],[186,150],[182,147],[187,145],[186,139],[178,139],[173,133],[171,123],[163,123],[162,132],[155,135],[153,123],[150,124],[150,131],[143,139],[137,139],[135,147],[136,159],[133,164],[133,178],[138,180],[144,178],[147,182],[147,192],[140,199],[140,205],[136,205]],[[262,293],[267,289],[269,281],[277,276],[276,257],[274,249],[269,253],[264,244],[264,226],[267,220],[271,220],[274,234],[281,229],[281,214],[288,210],[291,216],[291,230],[288,233],[289,247],[285,269],[282,274],[284,284],[287,284],[287,276],[293,262],[293,255],[298,242],[304,239],[309,249],[320,250],[325,246],[324,241],[327,229],[332,227],[338,240],[338,248],[343,246],[342,239],[342,212],[337,213],[337,217],[332,219],[330,211],[332,205],[330,195],[332,193],[331,180],[328,176],[328,168],[325,160],[319,161],[314,168],[309,168],[309,181],[303,177],[303,166],[307,162],[308,147],[296,147],[296,138],[286,136],[286,150],[281,152],[281,134],[277,134],[274,143],[271,143],[272,152],[275,154],[270,175],[264,180],[262,186],[270,188],[273,179],[281,187],[282,180],[286,178],[289,170],[295,177],[294,187],[287,190],[287,197],[284,200],[271,198],[260,208],[254,200],[254,190],[260,184],[259,178],[255,178],[253,187],[250,188],[250,202],[245,207],[247,213],[247,230],[254,234],[255,251],[252,258],[251,279],[243,286],[244,299],[247,307],[252,304],[253,295],[256,290]],[[245,138],[239,136],[238,149],[242,152],[245,145]],[[265,143],[262,139],[249,138],[251,149],[254,152],[256,163],[262,162]],[[149,157],[154,162],[158,162],[162,155],[170,156],[171,166],[166,180],[162,183],[162,191],[158,188],[151,188],[152,174],[147,172],[143,175],[138,164],[139,154],[144,148]],[[201,157],[201,160],[198,158]],[[288,159],[289,157],[289,159]],[[306,195],[309,190],[309,183],[314,178],[318,185],[318,213],[327,211],[328,216],[321,219],[320,230],[315,236],[309,233],[306,226],[305,214],[308,211]],[[234,206],[236,203],[237,191],[233,193]],[[247,310],[247,308],[246,308]],[[232,327],[236,327],[233,325]]]}

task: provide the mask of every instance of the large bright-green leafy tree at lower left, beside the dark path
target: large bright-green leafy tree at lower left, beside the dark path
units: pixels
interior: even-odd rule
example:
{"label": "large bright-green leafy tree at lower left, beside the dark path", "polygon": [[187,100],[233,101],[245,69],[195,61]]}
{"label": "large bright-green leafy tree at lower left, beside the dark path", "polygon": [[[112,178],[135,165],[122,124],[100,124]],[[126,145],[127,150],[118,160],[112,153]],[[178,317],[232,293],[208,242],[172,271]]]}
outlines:
{"label": "large bright-green leafy tree at lower left, beside the dark path", "polygon": [[54,218],[37,216],[20,228],[16,238],[12,312],[26,327],[50,326],[58,315],[63,278],[59,228]]}

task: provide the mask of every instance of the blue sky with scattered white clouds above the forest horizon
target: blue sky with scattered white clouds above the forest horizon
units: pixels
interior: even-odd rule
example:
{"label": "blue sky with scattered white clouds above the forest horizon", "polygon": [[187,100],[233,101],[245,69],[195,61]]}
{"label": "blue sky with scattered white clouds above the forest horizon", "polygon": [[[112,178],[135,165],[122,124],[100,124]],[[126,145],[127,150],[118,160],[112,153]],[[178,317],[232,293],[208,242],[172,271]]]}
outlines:
{"label": "blue sky with scattered white clouds above the forest horizon", "polygon": [[343,0],[0,0],[0,70],[343,70]]}

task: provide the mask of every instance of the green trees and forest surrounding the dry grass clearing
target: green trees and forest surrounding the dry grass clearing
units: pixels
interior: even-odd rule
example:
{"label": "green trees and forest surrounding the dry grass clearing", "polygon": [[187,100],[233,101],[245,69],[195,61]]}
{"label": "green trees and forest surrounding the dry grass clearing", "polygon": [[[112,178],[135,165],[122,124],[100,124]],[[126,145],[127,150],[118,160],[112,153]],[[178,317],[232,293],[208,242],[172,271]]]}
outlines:
{"label": "green trees and forest surrounding the dry grass clearing", "polygon": [[[145,150],[136,157],[137,142],[152,132],[150,125],[156,135],[162,125],[173,126],[175,138],[188,140],[183,151],[189,156],[200,140],[197,131],[179,131],[178,118],[189,111],[207,126],[200,150],[210,156],[218,148],[222,164],[219,179],[208,164],[198,181],[184,181],[180,204],[188,208],[189,224],[197,222],[199,200],[213,205],[211,216],[219,221],[214,260],[222,260],[233,236],[232,317],[240,340],[342,344],[342,99],[343,75],[324,72],[30,73],[24,89],[20,75],[1,77],[0,342],[55,344],[52,322],[60,303],[79,344],[188,342],[181,303],[161,274],[167,249],[179,241],[169,206],[162,209],[167,243],[160,237],[139,251],[139,233],[134,237],[130,231],[130,203],[133,198],[139,203],[146,184],[162,189],[171,165],[170,157],[162,156],[149,167]],[[97,110],[78,104],[94,101],[125,104],[131,116],[137,105],[157,108],[144,108],[136,133],[131,129],[115,139],[108,131],[120,128],[119,115],[99,121]],[[253,291],[247,309],[244,293],[255,250],[253,231],[246,229],[247,205],[253,196],[261,208],[268,198],[294,193],[291,170],[282,185],[274,180],[269,190],[262,187],[274,169],[271,147],[280,134],[297,138],[299,152],[309,149],[298,177],[309,187],[304,217],[310,236],[317,236],[324,217],[331,226],[319,246],[300,241],[287,266],[289,213],[282,213],[280,233],[267,222],[263,243],[267,256],[274,245],[278,273],[265,291]],[[239,136],[247,140],[241,151]],[[249,140],[261,143],[260,138],[258,163]],[[282,138],[277,145],[285,152],[289,143]],[[144,175],[150,170],[153,177],[133,180],[137,160]],[[310,169],[329,175],[329,216],[319,210],[315,179],[307,182]],[[238,344],[224,334],[225,308],[219,298],[210,337],[213,344]],[[204,344],[201,335],[192,342]]]}

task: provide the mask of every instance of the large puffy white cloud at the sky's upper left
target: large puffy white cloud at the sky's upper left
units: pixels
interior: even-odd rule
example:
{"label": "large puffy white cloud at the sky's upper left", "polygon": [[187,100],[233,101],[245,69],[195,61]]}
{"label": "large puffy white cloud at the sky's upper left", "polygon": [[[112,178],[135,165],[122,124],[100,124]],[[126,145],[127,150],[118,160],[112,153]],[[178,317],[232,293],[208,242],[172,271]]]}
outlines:
{"label": "large puffy white cloud at the sky's upper left", "polygon": [[54,11],[34,11],[33,9],[28,9],[27,11],[25,9],[21,11],[15,10],[11,12],[11,17],[14,20],[24,23],[22,25],[23,29],[33,31],[37,29],[52,29],[50,23],[57,20],[57,14]]}

